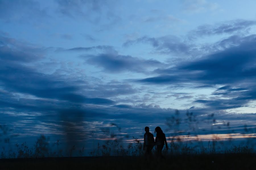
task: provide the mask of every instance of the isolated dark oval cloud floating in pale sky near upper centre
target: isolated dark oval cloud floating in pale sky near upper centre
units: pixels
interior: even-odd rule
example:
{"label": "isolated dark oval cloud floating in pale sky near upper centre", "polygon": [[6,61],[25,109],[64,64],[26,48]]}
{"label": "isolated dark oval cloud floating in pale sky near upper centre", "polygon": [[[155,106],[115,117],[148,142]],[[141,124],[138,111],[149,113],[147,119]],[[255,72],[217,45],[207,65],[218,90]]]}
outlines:
{"label": "isolated dark oval cloud floating in pale sky near upper centre", "polygon": [[104,71],[108,71],[110,73],[123,71],[143,73],[149,68],[164,65],[154,59],[146,60],[118,54],[99,54],[87,59],[86,63],[102,67]]}

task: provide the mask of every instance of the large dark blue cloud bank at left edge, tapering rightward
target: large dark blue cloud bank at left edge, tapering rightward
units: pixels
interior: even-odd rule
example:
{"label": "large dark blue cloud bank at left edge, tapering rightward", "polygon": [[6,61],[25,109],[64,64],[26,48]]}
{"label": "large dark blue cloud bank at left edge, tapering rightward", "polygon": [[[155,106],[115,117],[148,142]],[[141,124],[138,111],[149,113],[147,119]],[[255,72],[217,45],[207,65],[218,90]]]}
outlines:
{"label": "large dark blue cloud bank at left edge, tapering rightward", "polygon": [[[79,93],[81,90],[76,81],[66,81],[59,75],[47,75],[37,72],[33,67],[25,64],[42,58],[34,53],[43,52],[39,48],[15,46],[15,40],[1,39],[0,47],[0,86],[9,92],[29,94],[45,99],[57,99],[72,103],[87,103],[96,105],[113,105],[114,101],[102,97],[86,97]],[[9,42],[13,42],[9,48]],[[19,45],[19,43],[18,43]],[[22,50],[23,49],[23,50]],[[29,49],[31,51],[26,51]],[[41,54],[42,55],[42,54]],[[21,61],[23,63],[21,63]],[[76,85],[77,84],[77,85]]]}

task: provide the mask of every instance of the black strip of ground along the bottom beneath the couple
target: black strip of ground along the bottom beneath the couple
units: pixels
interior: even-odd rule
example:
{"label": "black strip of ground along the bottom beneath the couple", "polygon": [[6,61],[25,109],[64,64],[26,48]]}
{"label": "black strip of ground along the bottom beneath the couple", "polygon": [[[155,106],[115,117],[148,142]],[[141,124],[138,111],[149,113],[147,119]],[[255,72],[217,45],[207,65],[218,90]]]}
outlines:
{"label": "black strip of ground along the bottom beneath the couple", "polygon": [[212,154],[169,156],[160,163],[144,157],[73,157],[0,159],[5,169],[256,169],[255,154]]}

